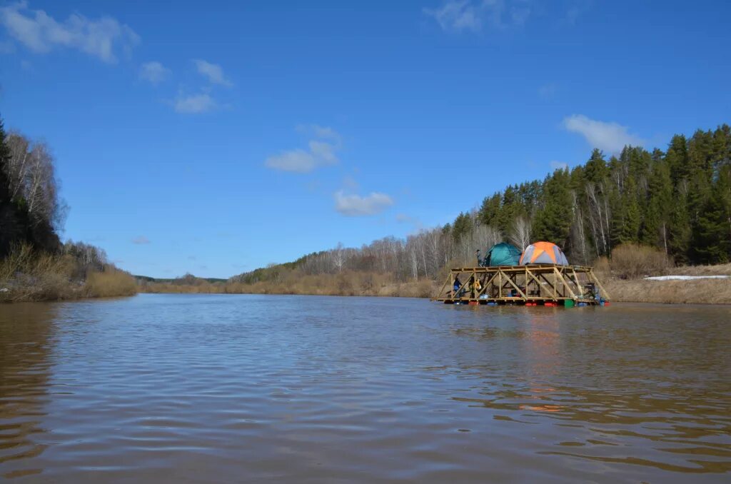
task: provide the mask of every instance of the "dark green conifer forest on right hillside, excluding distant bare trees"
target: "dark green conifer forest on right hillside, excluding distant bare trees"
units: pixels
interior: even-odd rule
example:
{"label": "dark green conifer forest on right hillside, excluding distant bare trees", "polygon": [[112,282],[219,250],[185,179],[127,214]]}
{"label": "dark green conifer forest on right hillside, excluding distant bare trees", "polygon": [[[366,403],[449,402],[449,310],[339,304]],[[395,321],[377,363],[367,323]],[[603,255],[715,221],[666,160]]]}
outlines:
{"label": "dark green conifer forest on right hillside, excluding distant bare trees", "polygon": [[654,246],[682,264],[728,262],[731,128],[675,135],[667,151],[627,146],[607,160],[594,150],[584,165],[485,198],[453,230],[474,223],[496,227],[518,246],[556,243],[576,262],[609,256],[622,243]]}

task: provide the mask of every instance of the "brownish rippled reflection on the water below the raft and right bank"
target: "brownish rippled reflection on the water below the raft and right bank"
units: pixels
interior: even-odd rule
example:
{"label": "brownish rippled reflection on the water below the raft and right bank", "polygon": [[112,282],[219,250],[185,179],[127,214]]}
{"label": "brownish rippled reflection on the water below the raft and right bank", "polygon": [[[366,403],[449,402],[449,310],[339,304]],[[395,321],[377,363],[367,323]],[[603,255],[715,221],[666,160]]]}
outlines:
{"label": "brownish rippled reflection on the water below the raft and right bank", "polygon": [[[594,320],[596,310],[536,311],[507,330],[502,318],[492,322],[499,327],[453,328],[456,336],[502,339],[508,347],[519,341],[522,360],[510,385],[474,388],[477,396],[455,401],[496,410],[498,420],[555,420],[574,436],[556,445],[583,447],[542,455],[674,472],[731,471],[727,309],[626,306],[600,313],[605,326]],[[575,328],[567,316],[588,316],[578,318],[587,324]],[[627,319],[622,324],[619,318]]]}

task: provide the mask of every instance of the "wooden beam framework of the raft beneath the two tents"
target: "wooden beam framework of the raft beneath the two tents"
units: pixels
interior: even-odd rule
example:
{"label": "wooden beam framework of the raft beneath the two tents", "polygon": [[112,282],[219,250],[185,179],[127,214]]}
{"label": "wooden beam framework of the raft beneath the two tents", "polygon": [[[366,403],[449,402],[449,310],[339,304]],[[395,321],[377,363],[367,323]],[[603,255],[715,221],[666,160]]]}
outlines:
{"label": "wooden beam framework of the raft beneath the two tents", "polygon": [[[471,278],[480,281],[479,289],[470,284]],[[456,291],[455,279],[461,282]],[[609,295],[591,267],[531,264],[454,268],[431,300],[445,304],[594,306],[609,300]]]}

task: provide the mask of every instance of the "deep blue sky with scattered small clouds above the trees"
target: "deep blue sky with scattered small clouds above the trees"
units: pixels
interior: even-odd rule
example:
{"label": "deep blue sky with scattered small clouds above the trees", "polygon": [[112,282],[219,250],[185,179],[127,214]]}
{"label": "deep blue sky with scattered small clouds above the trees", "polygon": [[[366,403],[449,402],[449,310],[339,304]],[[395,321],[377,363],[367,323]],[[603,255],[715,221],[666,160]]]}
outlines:
{"label": "deep blue sky with scattered small clouds above the trees", "polygon": [[[174,5],[174,7],[173,7]],[[0,115],[64,238],[227,277],[450,222],[731,113],[727,1],[0,2]]]}

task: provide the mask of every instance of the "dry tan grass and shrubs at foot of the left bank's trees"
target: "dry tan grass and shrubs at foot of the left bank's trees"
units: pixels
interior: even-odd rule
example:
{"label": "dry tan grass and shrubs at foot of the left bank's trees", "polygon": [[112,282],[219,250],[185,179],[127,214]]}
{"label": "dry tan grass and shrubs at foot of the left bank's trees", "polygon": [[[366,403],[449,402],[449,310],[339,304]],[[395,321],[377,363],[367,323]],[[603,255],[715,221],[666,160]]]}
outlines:
{"label": "dry tan grass and shrubs at foot of the left bank's trees", "polygon": [[75,271],[71,256],[15,246],[0,260],[0,302],[103,298],[137,292],[135,279],[113,266],[101,273],[88,273],[86,281],[74,279]]}

